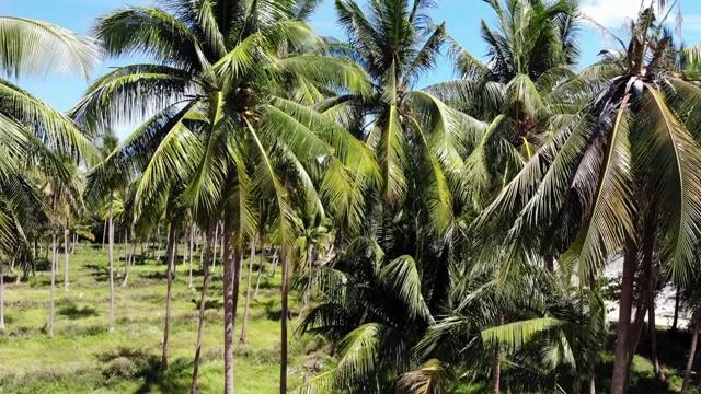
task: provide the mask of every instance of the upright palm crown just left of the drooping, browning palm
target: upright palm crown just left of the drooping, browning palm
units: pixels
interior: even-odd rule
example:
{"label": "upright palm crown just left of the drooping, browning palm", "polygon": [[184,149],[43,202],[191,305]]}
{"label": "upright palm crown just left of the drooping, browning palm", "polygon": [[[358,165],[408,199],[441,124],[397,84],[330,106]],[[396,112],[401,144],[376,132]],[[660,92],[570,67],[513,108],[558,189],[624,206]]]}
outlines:
{"label": "upright palm crown just left of the drooping, browning palm", "polygon": [[[575,76],[578,60],[577,2],[487,0],[496,26],[482,20],[486,62],[449,40],[461,79],[428,92],[490,126],[470,138],[463,174],[466,204],[476,209],[519,171],[541,143],[553,117],[576,112],[551,93]],[[576,103],[575,103],[576,104]]]}

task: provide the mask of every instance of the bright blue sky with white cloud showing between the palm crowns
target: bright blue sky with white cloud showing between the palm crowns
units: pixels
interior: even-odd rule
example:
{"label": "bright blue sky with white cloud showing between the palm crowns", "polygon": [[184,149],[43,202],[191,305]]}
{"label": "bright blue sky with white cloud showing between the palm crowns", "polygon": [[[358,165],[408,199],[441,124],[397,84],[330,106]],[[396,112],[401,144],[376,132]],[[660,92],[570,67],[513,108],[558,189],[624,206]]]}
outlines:
{"label": "bright blue sky with white cloud showing between the palm crowns", "polygon": [[[701,43],[701,0],[680,1],[685,20],[683,39],[688,44]],[[39,19],[87,34],[92,21],[100,14],[127,4],[152,3],[154,0],[0,0],[0,14]],[[587,15],[612,32],[620,33],[625,18],[636,14],[641,0],[582,0],[581,3]],[[484,19],[492,24],[494,15],[482,0],[439,0],[433,16],[437,23],[445,21],[448,32],[473,55],[484,55],[485,46],[480,39],[479,23]],[[312,16],[311,25],[319,34],[342,37],[335,24],[333,0],[324,0]],[[593,62],[599,50],[612,47],[610,38],[594,28],[586,28],[582,32],[583,65]],[[128,62],[107,59],[92,77],[100,77],[111,67]],[[427,77],[425,83],[447,80],[451,76],[450,68],[444,66]],[[88,86],[87,81],[68,76],[49,80],[21,80],[19,83],[61,111],[70,108]],[[117,134],[124,138],[129,131],[128,127],[123,127]]]}

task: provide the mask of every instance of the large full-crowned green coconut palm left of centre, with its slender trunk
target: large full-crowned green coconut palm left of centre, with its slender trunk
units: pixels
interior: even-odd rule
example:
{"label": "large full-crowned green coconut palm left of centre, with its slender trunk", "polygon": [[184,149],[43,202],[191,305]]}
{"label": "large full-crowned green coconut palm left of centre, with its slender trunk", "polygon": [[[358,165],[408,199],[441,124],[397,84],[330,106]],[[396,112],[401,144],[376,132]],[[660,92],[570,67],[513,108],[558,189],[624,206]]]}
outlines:
{"label": "large full-crowned green coconut palm left of centre, with its slender trunk", "polygon": [[[315,181],[329,190],[327,198],[340,198],[341,186],[353,189],[345,181],[348,174],[361,174],[358,167],[374,169],[371,154],[363,144],[296,101],[327,89],[369,92],[365,76],[354,63],[319,56],[323,43],[299,21],[311,3],[163,1],[159,3],[163,8],[131,7],[104,15],[93,32],[112,56],[140,54],[152,62],[122,67],[101,78],[73,111],[81,121],[102,127],[148,118],[95,169],[95,176],[125,177],[130,169],[137,169],[141,173],[137,201],[177,179],[189,185],[184,197],[194,209],[219,209],[223,220],[228,393],[233,391],[240,260],[243,246],[257,228],[251,200],[257,195],[275,201],[285,268],[295,240],[286,186],[301,183],[310,195],[318,196],[311,190],[315,184],[307,169],[324,166],[337,176]],[[288,89],[290,85],[297,89]],[[318,158],[326,160],[320,163]],[[283,164],[297,169],[297,176],[281,179],[276,167]],[[283,392],[286,287],[284,280]]]}

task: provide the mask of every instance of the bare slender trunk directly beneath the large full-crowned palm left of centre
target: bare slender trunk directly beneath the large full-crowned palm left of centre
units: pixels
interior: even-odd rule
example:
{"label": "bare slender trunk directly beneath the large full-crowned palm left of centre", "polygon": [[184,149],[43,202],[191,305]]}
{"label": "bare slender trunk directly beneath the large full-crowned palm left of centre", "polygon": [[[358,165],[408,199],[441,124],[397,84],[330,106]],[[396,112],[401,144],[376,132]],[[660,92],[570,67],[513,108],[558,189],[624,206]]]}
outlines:
{"label": "bare slender trunk directly beneath the large full-crowned palm left of centre", "polygon": [[234,245],[230,220],[225,219],[223,232],[223,368],[225,394],[233,394],[233,332],[239,302],[239,277],[241,276],[241,253]]}

